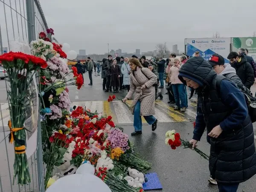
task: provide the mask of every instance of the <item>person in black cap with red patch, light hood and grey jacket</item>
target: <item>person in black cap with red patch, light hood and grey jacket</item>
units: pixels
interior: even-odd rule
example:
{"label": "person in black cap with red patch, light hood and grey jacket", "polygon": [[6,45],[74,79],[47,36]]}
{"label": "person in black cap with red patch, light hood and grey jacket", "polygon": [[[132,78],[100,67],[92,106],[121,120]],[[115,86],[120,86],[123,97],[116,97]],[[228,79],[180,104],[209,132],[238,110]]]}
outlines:
{"label": "person in black cap with red patch, light hood and grey jacket", "polygon": [[239,76],[236,75],[236,70],[233,67],[231,67],[230,64],[225,63],[225,60],[221,55],[212,55],[211,58],[209,58],[209,64],[213,67],[213,69],[218,75],[223,75],[227,79],[233,81],[239,88],[239,90],[247,94],[247,96],[249,96],[250,99],[253,99],[250,90],[244,86]]}

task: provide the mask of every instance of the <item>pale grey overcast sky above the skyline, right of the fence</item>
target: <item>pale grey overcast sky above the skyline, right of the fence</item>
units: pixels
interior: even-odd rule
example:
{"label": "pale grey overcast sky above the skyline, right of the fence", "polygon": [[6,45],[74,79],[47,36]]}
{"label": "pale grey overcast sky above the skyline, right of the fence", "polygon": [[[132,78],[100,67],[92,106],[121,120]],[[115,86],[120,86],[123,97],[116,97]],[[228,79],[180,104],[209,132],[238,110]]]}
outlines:
{"label": "pale grey overcast sky above the skyline, right of the fence", "polygon": [[[41,0],[60,43],[87,54],[152,51],[164,43],[184,51],[184,38],[252,36],[256,0]],[[208,3],[209,2],[209,3]]]}

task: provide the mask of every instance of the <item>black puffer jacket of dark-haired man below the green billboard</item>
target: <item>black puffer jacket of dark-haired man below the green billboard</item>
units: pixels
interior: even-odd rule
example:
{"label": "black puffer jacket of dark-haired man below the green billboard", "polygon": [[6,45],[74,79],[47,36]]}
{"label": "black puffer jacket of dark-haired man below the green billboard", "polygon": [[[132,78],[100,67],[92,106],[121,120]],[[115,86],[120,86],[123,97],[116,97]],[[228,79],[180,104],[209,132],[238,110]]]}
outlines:
{"label": "black puffer jacket of dark-haired man below the green billboard", "polygon": [[254,83],[254,73],[245,55],[241,55],[241,62],[236,62],[235,64],[231,64],[231,66],[236,69],[236,75],[239,76],[244,86],[250,89]]}

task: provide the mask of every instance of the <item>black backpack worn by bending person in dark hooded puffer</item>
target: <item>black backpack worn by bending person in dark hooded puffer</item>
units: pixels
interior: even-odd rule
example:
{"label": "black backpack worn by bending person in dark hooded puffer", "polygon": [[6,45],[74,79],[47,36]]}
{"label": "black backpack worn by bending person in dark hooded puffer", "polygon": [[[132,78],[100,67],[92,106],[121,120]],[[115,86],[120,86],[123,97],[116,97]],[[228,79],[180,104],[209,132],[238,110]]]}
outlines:
{"label": "black backpack worn by bending person in dark hooded puffer", "polygon": [[[218,94],[220,94],[220,88],[221,88],[221,81],[225,79],[228,81],[231,81],[230,79],[227,79],[226,77],[218,77],[216,80],[216,88]],[[231,81],[233,82],[233,81]],[[244,89],[246,90],[246,89]],[[242,93],[244,93],[245,102],[247,104],[248,113],[250,115],[250,119],[252,122],[256,122],[256,99],[253,97],[250,93],[247,91],[241,90]]]}

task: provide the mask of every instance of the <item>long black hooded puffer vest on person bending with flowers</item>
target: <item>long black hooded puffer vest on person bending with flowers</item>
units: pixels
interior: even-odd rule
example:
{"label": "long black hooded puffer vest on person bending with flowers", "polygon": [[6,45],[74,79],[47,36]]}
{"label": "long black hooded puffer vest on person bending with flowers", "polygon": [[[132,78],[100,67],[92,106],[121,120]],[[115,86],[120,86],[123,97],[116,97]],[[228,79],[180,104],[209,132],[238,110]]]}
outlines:
{"label": "long black hooded puffer vest on person bending with flowers", "polygon": [[[185,75],[202,83],[198,88],[197,111],[198,116],[203,114],[203,120],[196,123],[201,124],[202,128],[206,126],[207,133],[233,114],[235,109],[222,102],[220,98],[223,93],[217,86],[225,77],[217,75],[207,61],[201,57],[190,58],[179,72],[184,84],[186,81],[182,76]],[[239,93],[238,89],[236,93]],[[246,105],[245,100],[243,103]],[[217,139],[210,137],[209,170],[211,177],[216,178],[218,183],[241,183],[256,174],[253,125],[248,112],[244,118],[242,123],[224,129]],[[203,133],[204,130],[201,135]]]}

